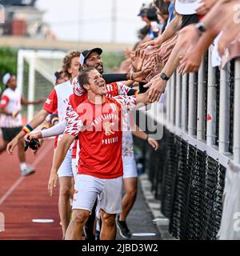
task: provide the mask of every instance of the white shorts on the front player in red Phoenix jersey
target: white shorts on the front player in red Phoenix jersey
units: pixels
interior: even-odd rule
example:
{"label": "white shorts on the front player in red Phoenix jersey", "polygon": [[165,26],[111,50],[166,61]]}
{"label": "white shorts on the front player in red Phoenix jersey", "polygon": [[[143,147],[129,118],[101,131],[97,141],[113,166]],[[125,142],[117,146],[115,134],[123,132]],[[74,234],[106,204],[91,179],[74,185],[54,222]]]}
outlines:
{"label": "white shorts on the front player in red Phoenix jersey", "polygon": [[74,186],[73,210],[89,210],[90,213],[98,198],[97,209],[107,214],[120,214],[122,211],[122,177],[95,178],[78,174]]}

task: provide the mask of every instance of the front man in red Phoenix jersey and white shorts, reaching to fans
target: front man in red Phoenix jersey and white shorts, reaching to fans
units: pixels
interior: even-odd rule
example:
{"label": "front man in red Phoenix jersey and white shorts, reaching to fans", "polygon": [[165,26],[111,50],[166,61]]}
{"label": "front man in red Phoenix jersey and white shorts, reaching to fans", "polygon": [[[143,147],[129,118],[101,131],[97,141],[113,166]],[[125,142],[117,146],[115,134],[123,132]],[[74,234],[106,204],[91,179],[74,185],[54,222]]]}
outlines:
{"label": "front man in red Phoenix jersey and white shorts, reaching to fans", "polygon": [[[96,198],[102,216],[100,238],[114,239],[115,215],[122,210],[122,111],[134,109],[137,103],[147,104],[148,95],[106,98],[106,82],[94,68],[84,70],[78,82],[86,90],[88,98],[75,108],[68,120],[50,179],[58,179],[58,167],[78,136],[81,144],[78,177],[75,181],[73,218],[66,239],[80,239]],[[50,194],[53,187],[49,187]]]}

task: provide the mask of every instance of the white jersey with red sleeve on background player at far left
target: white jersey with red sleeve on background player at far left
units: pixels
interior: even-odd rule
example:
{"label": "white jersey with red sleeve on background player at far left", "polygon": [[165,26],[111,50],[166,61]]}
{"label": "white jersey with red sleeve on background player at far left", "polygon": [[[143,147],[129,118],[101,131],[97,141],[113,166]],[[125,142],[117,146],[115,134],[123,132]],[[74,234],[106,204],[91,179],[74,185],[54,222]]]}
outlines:
{"label": "white jersey with red sleeve on background player at far left", "polygon": [[[9,113],[18,112],[22,110],[21,106],[22,94],[19,90],[12,90],[7,88],[1,98],[0,107]],[[1,114],[0,126],[3,128],[14,128],[22,126],[22,114],[19,113],[15,118]]]}

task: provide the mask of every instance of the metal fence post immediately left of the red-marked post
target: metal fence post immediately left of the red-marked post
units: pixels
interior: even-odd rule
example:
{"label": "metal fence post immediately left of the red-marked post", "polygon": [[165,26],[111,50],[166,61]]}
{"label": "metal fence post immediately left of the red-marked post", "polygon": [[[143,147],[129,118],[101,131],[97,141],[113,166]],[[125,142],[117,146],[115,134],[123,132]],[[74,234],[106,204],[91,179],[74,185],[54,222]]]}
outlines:
{"label": "metal fence post immediately left of the red-marked post", "polygon": [[205,86],[206,86],[206,64],[203,61],[198,71],[197,139],[200,141],[205,141],[205,136],[206,136]]}

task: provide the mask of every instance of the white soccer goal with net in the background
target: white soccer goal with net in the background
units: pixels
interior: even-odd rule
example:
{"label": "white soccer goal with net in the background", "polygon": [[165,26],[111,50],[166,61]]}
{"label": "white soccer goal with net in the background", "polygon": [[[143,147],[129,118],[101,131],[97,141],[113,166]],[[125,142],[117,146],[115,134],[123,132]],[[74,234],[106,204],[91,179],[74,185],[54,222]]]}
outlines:
{"label": "white soccer goal with net in the background", "polygon": [[[54,87],[54,73],[61,69],[65,52],[52,50],[18,50],[18,90],[23,98],[36,101],[50,94]],[[22,106],[22,114],[30,121],[38,106]]]}

